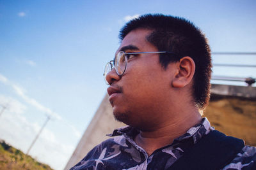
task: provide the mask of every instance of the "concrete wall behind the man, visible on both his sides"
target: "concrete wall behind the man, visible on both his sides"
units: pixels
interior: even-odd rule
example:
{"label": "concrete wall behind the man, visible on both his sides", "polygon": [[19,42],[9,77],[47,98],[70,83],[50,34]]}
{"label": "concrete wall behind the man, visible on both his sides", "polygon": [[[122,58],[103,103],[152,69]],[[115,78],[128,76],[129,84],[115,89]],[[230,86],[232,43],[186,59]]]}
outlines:
{"label": "concrete wall behind the man, visible on both his sides", "polygon": [[[211,101],[204,111],[211,124],[227,135],[245,140],[256,146],[256,88],[229,85],[212,85]],[[83,159],[92,148],[108,139],[113,129],[124,124],[113,118],[112,107],[106,95],[92,122],[79,141],[65,169],[70,169]]]}

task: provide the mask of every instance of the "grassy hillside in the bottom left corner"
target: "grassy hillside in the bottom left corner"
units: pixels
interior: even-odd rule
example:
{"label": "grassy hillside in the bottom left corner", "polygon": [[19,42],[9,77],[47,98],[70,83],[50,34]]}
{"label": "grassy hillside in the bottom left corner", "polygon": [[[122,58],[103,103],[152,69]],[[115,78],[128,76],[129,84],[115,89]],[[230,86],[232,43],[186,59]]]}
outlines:
{"label": "grassy hillside in the bottom left corner", "polygon": [[52,169],[42,164],[20,150],[0,141],[0,170],[5,169]]}

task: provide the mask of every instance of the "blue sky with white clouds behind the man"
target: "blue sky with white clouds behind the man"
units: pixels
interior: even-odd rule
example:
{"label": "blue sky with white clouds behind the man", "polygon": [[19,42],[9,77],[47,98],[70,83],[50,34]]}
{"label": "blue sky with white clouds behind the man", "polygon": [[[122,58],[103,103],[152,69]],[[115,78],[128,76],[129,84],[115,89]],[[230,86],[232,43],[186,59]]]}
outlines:
{"label": "blue sky with white clouds behind the man", "polygon": [[[129,18],[184,17],[202,29],[212,52],[256,52],[255,9],[256,1],[236,0],[0,1],[0,105],[8,106],[0,116],[0,138],[26,152],[51,115],[30,154],[62,169],[106,94],[102,72]],[[256,65],[255,55],[212,60]],[[213,71],[256,77],[255,68]]]}

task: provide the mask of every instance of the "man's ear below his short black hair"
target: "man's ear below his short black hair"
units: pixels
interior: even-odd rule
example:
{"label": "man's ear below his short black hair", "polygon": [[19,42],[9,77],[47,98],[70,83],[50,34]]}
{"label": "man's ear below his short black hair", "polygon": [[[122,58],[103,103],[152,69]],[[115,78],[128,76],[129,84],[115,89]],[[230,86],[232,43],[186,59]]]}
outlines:
{"label": "man's ear below his short black hair", "polygon": [[182,59],[175,64],[177,71],[172,81],[173,87],[185,87],[188,85],[195,74],[195,62],[191,57],[182,57]]}

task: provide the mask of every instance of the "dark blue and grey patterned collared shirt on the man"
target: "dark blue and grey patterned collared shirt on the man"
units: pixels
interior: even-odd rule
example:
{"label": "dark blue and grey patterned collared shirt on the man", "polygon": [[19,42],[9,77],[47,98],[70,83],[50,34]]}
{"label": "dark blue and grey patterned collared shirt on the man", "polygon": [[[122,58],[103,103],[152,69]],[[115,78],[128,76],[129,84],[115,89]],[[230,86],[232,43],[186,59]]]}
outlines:
{"label": "dark blue and grey patterned collared shirt on the man", "polygon": [[[115,129],[115,136],[95,146],[72,170],[77,169],[168,169],[183,155],[183,150],[195,145],[205,134],[214,130],[207,118],[191,127],[185,134],[174,139],[173,143],[155,150],[148,155],[134,142],[139,133],[137,129],[127,126]],[[226,169],[253,169],[256,164],[256,148],[244,146]]]}

